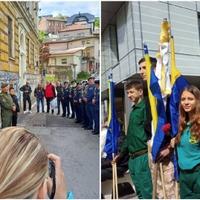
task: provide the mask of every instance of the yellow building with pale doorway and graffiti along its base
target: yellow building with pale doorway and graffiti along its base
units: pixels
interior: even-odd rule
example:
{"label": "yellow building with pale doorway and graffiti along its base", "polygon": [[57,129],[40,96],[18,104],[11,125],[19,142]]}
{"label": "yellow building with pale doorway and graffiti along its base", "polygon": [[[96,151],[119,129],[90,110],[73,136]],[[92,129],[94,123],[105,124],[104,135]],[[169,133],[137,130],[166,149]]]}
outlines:
{"label": "yellow building with pale doorway and graffiti along its base", "polygon": [[25,81],[35,87],[40,80],[37,13],[38,2],[0,2],[0,81],[17,92]]}

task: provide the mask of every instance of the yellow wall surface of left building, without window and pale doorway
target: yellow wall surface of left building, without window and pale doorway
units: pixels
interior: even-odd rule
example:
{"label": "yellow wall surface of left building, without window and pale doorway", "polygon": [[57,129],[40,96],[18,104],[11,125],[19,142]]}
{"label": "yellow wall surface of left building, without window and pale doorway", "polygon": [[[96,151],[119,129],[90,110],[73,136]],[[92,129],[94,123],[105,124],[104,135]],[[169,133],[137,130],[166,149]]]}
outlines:
{"label": "yellow wall surface of left building, without window and pale doorway", "polygon": [[[19,73],[19,24],[17,21],[17,8],[13,7],[10,2],[0,2],[0,71]],[[14,57],[9,58],[8,55],[8,18],[10,16],[14,22]],[[30,20],[30,19],[28,19]],[[26,20],[25,20],[26,21]],[[27,23],[27,26],[29,24]],[[30,28],[31,30],[31,28]],[[29,60],[27,59],[27,72],[34,73],[34,48],[35,54],[39,53],[39,42],[35,34],[30,31],[26,35],[29,38],[30,54]],[[27,44],[26,44],[27,45]],[[33,48],[34,47],[34,48]],[[27,55],[28,57],[28,55]]]}

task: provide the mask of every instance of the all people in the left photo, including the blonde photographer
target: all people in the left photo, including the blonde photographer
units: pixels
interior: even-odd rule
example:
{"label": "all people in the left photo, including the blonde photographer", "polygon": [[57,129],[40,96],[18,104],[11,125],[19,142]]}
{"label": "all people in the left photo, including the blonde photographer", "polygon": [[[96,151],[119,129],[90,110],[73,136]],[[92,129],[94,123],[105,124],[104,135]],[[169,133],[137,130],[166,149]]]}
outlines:
{"label": "all people in the left photo, including the blonde photographer", "polygon": [[[20,91],[24,114],[31,113],[32,88],[28,81]],[[99,134],[99,80],[90,77],[79,83],[56,82],[55,86],[47,82],[45,87],[39,83],[34,97],[37,112],[54,114],[57,109],[57,115],[75,119],[85,129]],[[73,193],[67,192],[61,158],[49,153],[31,131],[16,127],[20,106],[14,88],[7,83],[1,84],[0,105],[0,197],[73,199]]]}

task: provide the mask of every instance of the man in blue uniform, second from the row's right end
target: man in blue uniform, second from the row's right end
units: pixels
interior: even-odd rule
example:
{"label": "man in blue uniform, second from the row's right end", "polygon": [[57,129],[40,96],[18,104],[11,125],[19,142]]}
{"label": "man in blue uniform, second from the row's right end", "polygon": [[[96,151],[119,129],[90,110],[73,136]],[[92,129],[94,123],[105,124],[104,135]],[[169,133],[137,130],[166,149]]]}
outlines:
{"label": "man in blue uniform, second from the row's right end", "polygon": [[89,119],[89,125],[86,127],[87,130],[93,129],[93,121],[94,121],[94,105],[92,104],[92,99],[94,98],[94,77],[88,78],[88,87],[86,91],[86,97],[84,101],[86,102],[86,113]]}

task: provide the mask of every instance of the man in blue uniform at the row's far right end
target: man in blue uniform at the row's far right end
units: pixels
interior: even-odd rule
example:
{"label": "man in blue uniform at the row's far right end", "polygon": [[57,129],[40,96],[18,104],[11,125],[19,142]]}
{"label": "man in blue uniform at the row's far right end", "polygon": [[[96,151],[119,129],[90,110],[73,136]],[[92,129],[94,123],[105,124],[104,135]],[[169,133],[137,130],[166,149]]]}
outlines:
{"label": "man in blue uniform at the row's far right end", "polygon": [[99,80],[95,80],[94,98],[92,103],[94,104],[94,131],[92,134],[99,134]]}

